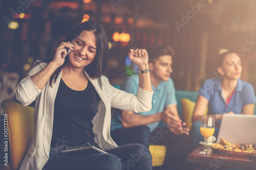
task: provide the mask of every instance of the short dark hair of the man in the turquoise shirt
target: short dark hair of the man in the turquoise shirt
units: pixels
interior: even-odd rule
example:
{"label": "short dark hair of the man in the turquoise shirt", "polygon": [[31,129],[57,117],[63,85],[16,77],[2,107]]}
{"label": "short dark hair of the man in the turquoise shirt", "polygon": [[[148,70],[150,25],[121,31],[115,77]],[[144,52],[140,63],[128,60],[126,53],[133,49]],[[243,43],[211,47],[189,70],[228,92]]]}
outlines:
{"label": "short dark hair of the man in the turquoise shirt", "polygon": [[170,46],[167,45],[156,45],[152,46],[147,49],[147,54],[149,58],[149,62],[154,62],[156,58],[164,56],[164,55],[170,55],[174,56],[174,50]]}

